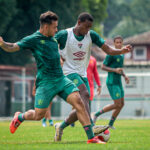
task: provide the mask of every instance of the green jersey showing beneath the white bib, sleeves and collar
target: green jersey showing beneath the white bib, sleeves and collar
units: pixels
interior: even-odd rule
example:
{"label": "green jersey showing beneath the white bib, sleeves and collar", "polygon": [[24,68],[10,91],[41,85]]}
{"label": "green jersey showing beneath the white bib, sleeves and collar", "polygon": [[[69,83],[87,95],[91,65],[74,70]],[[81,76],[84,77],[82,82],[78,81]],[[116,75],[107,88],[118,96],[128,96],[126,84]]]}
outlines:
{"label": "green jersey showing beneath the white bib, sleeves and collar", "polygon": [[[59,43],[59,47],[60,49],[64,49],[65,45],[66,45],[66,41],[67,41],[67,36],[68,36],[68,32],[67,30],[61,30],[59,31],[56,35],[55,38],[57,39],[58,43]],[[75,38],[78,41],[82,41],[84,39],[84,36],[77,36],[75,35]],[[90,36],[92,39],[92,43],[96,44],[98,47],[101,47],[104,43],[105,40],[103,38],[101,38],[95,31],[90,30]]]}

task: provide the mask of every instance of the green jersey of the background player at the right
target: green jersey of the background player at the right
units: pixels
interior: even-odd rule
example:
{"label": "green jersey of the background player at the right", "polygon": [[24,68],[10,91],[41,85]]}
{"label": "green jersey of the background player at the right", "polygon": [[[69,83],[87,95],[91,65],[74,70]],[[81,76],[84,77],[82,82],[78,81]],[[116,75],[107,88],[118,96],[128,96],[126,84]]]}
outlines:
{"label": "green jersey of the background player at the right", "polygon": [[[122,68],[124,62],[124,55],[111,56],[107,55],[103,64],[110,68]],[[115,72],[108,72],[107,84],[120,84],[121,75]]]}

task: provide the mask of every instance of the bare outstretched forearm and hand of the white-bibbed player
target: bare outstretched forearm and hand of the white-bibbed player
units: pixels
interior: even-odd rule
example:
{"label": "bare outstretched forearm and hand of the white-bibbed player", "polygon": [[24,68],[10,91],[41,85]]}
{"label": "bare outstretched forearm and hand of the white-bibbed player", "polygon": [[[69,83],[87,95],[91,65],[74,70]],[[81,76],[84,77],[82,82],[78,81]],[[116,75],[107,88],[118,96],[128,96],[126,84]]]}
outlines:
{"label": "bare outstretched forearm and hand of the white-bibbed player", "polygon": [[110,47],[109,45],[107,45],[105,43],[102,45],[101,48],[108,55],[125,54],[125,53],[131,52],[131,50],[132,50],[132,46],[131,45],[127,45],[127,46],[123,47],[122,49],[115,49],[115,48],[112,48],[112,47]]}

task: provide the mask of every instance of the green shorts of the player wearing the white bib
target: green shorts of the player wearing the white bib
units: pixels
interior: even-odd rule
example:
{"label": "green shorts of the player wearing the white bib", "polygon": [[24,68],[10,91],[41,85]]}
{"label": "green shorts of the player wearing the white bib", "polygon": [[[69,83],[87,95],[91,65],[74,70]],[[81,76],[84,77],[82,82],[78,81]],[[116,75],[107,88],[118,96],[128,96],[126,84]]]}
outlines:
{"label": "green shorts of the player wearing the white bib", "polygon": [[79,87],[81,84],[84,84],[90,94],[90,86],[89,86],[89,82],[88,79],[86,77],[81,77],[79,74],[77,73],[72,73],[67,75],[67,77],[73,81],[73,83]]}

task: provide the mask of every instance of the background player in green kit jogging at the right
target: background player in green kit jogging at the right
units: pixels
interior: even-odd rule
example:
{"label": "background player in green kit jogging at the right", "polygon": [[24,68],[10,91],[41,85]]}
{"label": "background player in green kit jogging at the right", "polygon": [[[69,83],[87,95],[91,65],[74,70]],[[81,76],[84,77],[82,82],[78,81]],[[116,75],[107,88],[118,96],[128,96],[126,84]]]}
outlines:
{"label": "background player in green kit jogging at the right", "polygon": [[[115,48],[121,49],[123,46],[123,38],[121,36],[116,36],[114,38],[114,45]],[[113,110],[111,119],[109,121],[109,126],[112,129],[115,129],[113,124],[124,106],[124,90],[122,87],[121,76],[124,77],[127,84],[129,83],[129,78],[125,75],[122,68],[123,61],[124,55],[106,56],[102,65],[102,69],[108,72],[106,84],[114,104],[104,106],[102,110],[95,113],[93,118],[93,121],[96,122],[98,116]]]}

